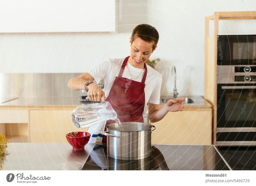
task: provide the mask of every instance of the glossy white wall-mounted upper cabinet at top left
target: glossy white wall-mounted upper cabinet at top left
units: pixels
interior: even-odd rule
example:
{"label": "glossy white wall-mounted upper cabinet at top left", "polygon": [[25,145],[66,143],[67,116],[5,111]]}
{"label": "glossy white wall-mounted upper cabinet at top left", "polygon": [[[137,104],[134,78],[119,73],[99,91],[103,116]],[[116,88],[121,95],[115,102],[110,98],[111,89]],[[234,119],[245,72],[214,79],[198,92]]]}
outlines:
{"label": "glossy white wall-mounted upper cabinet at top left", "polygon": [[0,33],[114,32],[115,10],[115,0],[2,0]]}

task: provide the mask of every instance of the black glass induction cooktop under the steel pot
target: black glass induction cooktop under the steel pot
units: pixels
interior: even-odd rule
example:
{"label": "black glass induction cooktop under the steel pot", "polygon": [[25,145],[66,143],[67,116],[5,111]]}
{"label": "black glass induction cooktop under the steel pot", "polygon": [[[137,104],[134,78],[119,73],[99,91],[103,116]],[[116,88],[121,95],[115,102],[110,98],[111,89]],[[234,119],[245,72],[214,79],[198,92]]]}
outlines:
{"label": "black glass induction cooktop under the steel pot", "polygon": [[232,170],[214,145],[152,145],[151,157],[117,160],[96,144],[82,170]]}

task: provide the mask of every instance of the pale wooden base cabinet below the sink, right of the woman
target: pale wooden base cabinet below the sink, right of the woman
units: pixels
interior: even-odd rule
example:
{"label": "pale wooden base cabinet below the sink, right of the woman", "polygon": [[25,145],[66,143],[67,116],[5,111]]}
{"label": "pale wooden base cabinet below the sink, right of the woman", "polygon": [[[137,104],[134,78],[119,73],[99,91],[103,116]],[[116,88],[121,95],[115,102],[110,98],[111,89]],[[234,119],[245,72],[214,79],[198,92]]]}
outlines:
{"label": "pale wooden base cabinet below the sink, right of the woman", "polygon": [[152,144],[211,145],[212,110],[184,110],[169,112],[163,120],[151,123]]}

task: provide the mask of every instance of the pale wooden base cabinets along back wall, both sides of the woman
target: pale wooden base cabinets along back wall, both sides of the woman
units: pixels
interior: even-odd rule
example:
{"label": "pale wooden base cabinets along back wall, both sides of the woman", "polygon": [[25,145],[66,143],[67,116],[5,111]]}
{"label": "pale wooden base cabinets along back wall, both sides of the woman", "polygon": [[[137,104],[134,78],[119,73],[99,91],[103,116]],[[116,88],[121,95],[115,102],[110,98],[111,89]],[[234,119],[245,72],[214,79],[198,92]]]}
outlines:
{"label": "pale wooden base cabinets along back wall, both sides of the woman", "polygon": [[[71,118],[73,107],[2,109],[0,131],[9,142],[67,143],[66,134],[88,131],[77,128]],[[152,144],[211,144],[211,108],[184,108],[182,112],[169,112],[163,120],[151,123]]]}

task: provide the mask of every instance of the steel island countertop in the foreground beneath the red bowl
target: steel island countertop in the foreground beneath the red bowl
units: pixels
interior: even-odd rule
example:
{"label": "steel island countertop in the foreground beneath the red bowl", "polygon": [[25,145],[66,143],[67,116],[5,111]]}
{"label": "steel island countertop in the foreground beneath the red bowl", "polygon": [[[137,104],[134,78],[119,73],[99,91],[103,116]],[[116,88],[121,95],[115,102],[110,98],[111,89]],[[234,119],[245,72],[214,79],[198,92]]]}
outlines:
{"label": "steel island countertop in the foreground beneath the red bowl", "polygon": [[8,143],[3,170],[81,170],[94,145],[77,151],[69,143]]}

